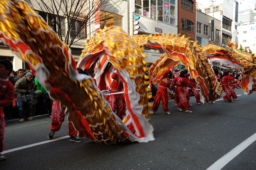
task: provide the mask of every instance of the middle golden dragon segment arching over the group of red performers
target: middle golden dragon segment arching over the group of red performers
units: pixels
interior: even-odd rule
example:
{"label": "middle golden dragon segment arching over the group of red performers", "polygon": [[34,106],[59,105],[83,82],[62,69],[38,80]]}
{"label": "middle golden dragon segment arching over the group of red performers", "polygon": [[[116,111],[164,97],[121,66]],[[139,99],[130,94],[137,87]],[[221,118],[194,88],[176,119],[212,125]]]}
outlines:
{"label": "middle golden dragon segment arching over the group of red performers", "polygon": [[[132,38],[139,46],[164,50],[165,56],[162,56],[154,62],[150,69],[150,73],[152,73],[152,75],[155,74],[154,77],[157,78],[156,81],[159,82],[159,77],[163,76],[163,74],[156,75],[157,73],[165,73],[168,69],[173,67],[174,62],[176,63],[174,65],[181,62],[189,71],[190,76],[195,78],[198,86],[200,86],[202,102],[214,101],[221,96],[219,82],[207,58],[201,52],[198,45],[190,41],[189,38],[185,36],[180,37],[179,35],[175,36],[174,34],[133,35]],[[170,59],[173,60],[173,62]],[[156,66],[157,64],[161,65],[161,67]],[[163,67],[164,65],[166,66]]]}

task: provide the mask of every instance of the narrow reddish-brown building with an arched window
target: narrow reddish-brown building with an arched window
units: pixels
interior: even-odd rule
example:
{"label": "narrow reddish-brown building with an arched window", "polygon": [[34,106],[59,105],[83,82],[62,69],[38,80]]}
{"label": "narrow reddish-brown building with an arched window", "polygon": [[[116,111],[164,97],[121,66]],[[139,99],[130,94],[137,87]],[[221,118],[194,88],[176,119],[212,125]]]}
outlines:
{"label": "narrow reddish-brown building with an arched window", "polygon": [[196,0],[178,1],[178,33],[196,40]]}

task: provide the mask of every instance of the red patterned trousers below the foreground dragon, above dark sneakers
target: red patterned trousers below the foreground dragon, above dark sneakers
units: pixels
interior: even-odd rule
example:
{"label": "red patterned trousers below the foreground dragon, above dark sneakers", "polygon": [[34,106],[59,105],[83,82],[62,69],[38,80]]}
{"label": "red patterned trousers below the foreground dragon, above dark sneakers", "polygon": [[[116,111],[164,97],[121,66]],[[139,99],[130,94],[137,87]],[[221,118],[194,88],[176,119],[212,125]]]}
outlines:
{"label": "red patterned trousers below the foreground dragon, above dark sneakers", "polygon": [[[65,118],[65,108],[60,108],[60,104],[53,101],[52,103],[52,126],[50,127],[53,132],[58,132],[60,130],[61,124]],[[68,123],[68,135],[76,136],[77,132],[73,127],[72,123]]]}

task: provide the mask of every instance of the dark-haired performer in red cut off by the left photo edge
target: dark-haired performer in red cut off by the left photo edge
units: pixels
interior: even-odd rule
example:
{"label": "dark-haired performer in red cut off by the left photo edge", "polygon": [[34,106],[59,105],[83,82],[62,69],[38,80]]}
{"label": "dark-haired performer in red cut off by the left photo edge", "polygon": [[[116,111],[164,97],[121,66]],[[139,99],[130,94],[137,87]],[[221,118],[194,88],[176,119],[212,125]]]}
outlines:
{"label": "dark-haired performer in red cut off by the left photo edge", "polygon": [[[14,97],[14,87],[8,76],[12,72],[12,63],[8,60],[0,61],[0,152],[4,151],[4,109],[9,106]],[[6,157],[0,153],[0,161]]]}

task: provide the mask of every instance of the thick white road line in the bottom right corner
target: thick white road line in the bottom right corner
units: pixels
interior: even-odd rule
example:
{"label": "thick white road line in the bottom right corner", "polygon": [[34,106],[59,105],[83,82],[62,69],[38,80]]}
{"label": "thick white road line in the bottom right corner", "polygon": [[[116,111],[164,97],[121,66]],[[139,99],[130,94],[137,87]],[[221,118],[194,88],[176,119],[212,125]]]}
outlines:
{"label": "thick white road line in the bottom right corner", "polygon": [[223,168],[232,159],[234,159],[239,153],[244,151],[250,144],[256,141],[256,133],[247,138],[244,142],[237,145],[234,149],[229,151],[226,155],[218,159],[214,164],[212,164],[207,170],[218,170]]}

